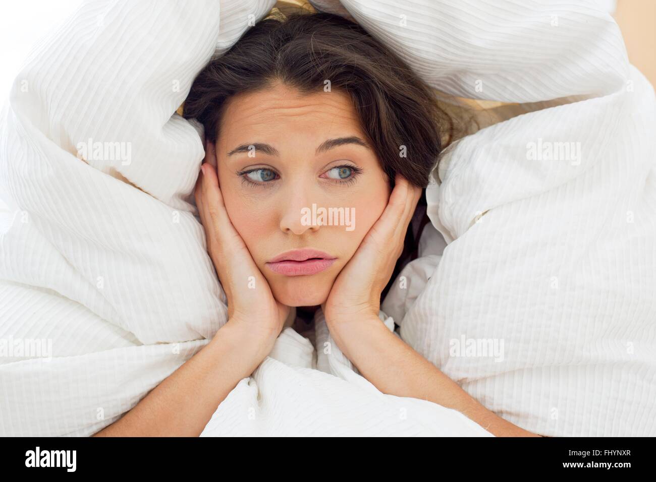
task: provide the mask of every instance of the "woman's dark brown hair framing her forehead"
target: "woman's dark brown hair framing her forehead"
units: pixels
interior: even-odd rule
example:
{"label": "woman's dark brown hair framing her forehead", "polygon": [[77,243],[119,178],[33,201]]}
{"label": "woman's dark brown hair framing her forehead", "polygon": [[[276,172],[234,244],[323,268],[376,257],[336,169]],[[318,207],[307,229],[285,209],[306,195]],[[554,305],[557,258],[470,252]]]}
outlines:
{"label": "woman's dark brown hair framing her forehead", "polygon": [[183,115],[202,123],[207,139],[216,142],[226,99],[276,81],[302,93],[319,92],[330,81],[331,89],[348,93],[390,185],[396,172],[415,186],[428,185],[451,119],[401,58],[335,14],[294,12],[261,20],[197,75]]}

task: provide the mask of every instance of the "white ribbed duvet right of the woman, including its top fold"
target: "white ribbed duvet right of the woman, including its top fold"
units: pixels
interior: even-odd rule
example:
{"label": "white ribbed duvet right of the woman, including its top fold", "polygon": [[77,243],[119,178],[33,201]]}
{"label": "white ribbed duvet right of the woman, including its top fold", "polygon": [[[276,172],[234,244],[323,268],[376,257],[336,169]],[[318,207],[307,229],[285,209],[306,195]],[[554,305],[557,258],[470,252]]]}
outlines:
{"label": "white ribbed duvet right of the woman, including its top fold", "polygon": [[[655,100],[613,19],[591,1],[342,3],[435,89],[554,99],[444,153],[426,197],[449,245],[382,305],[401,338],[531,432],[656,435]],[[539,142],[580,157],[532,159]]]}

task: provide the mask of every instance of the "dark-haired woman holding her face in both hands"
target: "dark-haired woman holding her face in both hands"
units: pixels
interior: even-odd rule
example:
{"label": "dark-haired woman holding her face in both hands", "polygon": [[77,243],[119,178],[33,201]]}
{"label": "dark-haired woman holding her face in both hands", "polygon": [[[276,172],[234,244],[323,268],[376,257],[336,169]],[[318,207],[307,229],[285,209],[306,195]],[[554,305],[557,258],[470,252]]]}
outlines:
{"label": "dark-haired woman holding her face in both hands", "polygon": [[[535,435],[485,409],[380,321],[449,133],[399,58],[332,14],[268,18],[201,71],[184,116],[205,129],[195,198],[229,320],[96,435],[199,435],[217,397],[268,355],[293,308],[308,306],[321,306],[339,348],[381,392],[457,409],[493,435]],[[302,213],[314,205],[354,212],[355,222],[308,222]],[[226,369],[215,372],[219,359]]]}

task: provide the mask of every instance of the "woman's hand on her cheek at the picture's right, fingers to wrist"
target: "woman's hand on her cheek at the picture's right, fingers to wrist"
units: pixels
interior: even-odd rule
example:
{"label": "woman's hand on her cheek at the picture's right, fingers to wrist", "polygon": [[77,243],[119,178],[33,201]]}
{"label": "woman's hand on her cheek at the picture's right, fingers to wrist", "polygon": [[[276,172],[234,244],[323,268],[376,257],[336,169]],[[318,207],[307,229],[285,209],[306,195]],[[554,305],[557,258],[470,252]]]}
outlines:
{"label": "woman's hand on her cheek at the picture's right, fingers to wrist", "polygon": [[326,323],[378,317],[380,293],[387,285],[401,252],[408,224],[422,190],[396,174],[394,190],[378,220],[335,279],[321,304]]}

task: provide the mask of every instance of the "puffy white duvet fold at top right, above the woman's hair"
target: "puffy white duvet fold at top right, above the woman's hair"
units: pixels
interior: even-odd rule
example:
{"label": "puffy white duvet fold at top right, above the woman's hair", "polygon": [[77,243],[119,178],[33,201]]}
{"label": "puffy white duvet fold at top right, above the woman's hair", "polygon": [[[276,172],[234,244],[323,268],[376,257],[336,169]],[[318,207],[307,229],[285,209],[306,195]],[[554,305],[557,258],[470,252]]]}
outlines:
{"label": "puffy white duvet fold at top right, above the woman's hair", "polygon": [[623,87],[626,51],[594,0],[341,0],[448,94],[535,102]]}

